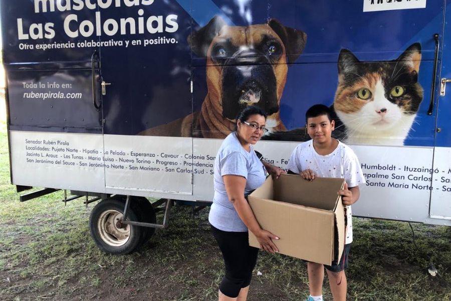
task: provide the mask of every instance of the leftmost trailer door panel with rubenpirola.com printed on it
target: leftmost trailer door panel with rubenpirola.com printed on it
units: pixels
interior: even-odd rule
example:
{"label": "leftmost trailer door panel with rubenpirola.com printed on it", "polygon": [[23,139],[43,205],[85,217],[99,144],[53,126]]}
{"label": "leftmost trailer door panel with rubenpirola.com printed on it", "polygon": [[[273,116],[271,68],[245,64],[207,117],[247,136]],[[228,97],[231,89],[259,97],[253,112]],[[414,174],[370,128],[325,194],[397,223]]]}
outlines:
{"label": "leftmost trailer door panel with rubenpirola.com printed on it", "polygon": [[[104,169],[95,166],[103,153],[95,48],[69,37],[53,9],[27,0],[1,6],[12,182],[103,192]],[[78,18],[94,22],[95,12]]]}

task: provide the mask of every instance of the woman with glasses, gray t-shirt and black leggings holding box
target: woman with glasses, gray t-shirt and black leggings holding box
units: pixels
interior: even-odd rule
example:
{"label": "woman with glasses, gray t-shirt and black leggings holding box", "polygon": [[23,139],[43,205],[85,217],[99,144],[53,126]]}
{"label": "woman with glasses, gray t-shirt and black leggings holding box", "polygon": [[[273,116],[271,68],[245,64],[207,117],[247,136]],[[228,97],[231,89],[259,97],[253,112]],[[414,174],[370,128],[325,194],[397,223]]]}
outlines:
{"label": "woman with glasses, gray t-shirt and black leggings holding box", "polygon": [[208,221],[219,244],[225,275],[219,285],[219,301],[245,301],[257,262],[258,248],[249,246],[248,229],[257,237],[262,249],[274,253],[278,249],[274,234],[260,228],[246,196],[265,182],[266,170],[279,177],[284,171],[263,164],[254,147],[263,134],[266,113],[246,107],[237,117],[236,130],[229,134],[214,161],[214,197]]}

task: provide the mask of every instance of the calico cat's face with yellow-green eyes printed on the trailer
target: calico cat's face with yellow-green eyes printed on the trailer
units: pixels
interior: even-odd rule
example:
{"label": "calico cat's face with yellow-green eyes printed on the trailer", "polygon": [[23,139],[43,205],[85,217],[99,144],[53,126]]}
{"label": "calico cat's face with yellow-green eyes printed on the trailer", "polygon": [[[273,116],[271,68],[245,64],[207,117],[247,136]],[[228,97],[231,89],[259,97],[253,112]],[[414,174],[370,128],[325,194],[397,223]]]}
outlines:
{"label": "calico cat's face with yellow-green eyes printed on the trailer", "polygon": [[415,43],[397,59],[361,62],[343,49],[338,59],[334,108],[350,130],[361,134],[407,134],[423,90],[418,81],[421,46]]}

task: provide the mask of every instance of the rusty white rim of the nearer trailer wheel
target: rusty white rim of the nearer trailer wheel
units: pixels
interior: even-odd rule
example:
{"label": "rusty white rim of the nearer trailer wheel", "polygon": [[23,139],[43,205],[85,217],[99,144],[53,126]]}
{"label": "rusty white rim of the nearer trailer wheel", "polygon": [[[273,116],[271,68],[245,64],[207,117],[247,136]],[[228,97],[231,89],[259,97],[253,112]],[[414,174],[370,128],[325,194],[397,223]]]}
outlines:
{"label": "rusty white rim of the nearer trailer wheel", "polygon": [[127,243],[130,238],[130,225],[122,224],[124,228],[118,228],[117,223],[122,220],[122,213],[117,210],[102,212],[97,221],[97,229],[100,238],[108,245],[119,247]]}

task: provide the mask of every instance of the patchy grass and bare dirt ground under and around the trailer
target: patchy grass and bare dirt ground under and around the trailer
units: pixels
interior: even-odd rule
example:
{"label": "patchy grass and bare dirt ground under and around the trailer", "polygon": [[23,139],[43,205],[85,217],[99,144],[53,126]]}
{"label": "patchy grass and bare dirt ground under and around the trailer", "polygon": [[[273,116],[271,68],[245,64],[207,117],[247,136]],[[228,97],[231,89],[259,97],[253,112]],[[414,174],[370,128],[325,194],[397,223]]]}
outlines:
{"label": "patchy grass and bare dirt ground under and around the trailer", "polygon": [[[1,300],[215,300],[222,258],[207,223],[175,206],[170,227],[137,252],[102,253],[89,235],[91,208],[57,192],[19,202],[0,124]],[[161,218],[161,214],[158,216]],[[451,300],[451,227],[354,218],[348,300]],[[427,267],[433,262],[438,275]],[[262,272],[257,276],[257,271]],[[306,264],[260,253],[249,300],[303,300]],[[327,279],[324,295],[332,300]]]}

